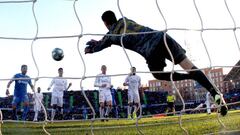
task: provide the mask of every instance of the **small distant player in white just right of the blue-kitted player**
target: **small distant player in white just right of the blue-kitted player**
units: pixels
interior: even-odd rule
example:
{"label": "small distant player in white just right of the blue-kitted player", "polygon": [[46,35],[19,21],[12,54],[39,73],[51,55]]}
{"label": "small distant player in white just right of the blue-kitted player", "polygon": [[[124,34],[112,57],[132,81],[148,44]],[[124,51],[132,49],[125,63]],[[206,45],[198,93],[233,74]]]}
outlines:
{"label": "small distant player in white just right of the blue-kitted player", "polygon": [[43,100],[43,94],[41,93],[40,87],[37,88],[37,93],[36,95],[35,94],[33,95],[33,98],[34,98],[33,110],[35,112],[33,121],[38,121],[38,113],[42,110],[42,106],[40,102],[42,102]]}

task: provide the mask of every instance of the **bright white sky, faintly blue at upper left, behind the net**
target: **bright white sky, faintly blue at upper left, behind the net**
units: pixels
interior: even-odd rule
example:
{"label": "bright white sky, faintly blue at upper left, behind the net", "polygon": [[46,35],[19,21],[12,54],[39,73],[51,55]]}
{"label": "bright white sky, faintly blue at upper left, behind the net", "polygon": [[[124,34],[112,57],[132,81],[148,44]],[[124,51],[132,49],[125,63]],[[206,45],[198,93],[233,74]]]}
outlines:
{"label": "bright white sky, faintly blue at upper left, behind the net", "polygon": [[[3,2],[3,0],[1,0]],[[38,22],[38,37],[70,36],[81,33],[81,27],[74,13],[71,0],[38,0],[34,11]],[[226,0],[234,17],[236,26],[240,25],[240,1]],[[124,16],[139,24],[156,30],[164,30],[165,24],[155,0],[120,0],[120,9]],[[158,0],[159,7],[167,21],[167,28],[201,29],[201,22],[195,10],[193,0]],[[226,9],[224,0],[196,0],[204,28],[233,28],[234,23]],[[101,15],[106,10],[112,10],[120,18],[117,0],[78,0],[77,14],[83,25],[83,33],[105,34],[107,29],[101,21]],[[36,24],[32,12],[32,2],[0,3],[0,37],[33,38],[36,35]],[[169,30],[188,52],[187,55],[199,68],[210,66],[206,50],[201,41],[200,31]],[[240,40],[239,29],[236,30]],[[84,54],[85,44],[90,39],[101,39],[102,36],[83,36],[80,39],[79,50],[86,63],[86,76],[99,74],[101,65],[108,67],[107,74],[125,74],[129,72],[130,64],[122,48],[112,46],[95,54]],[[234,66],[239,60],[240,51],[232,30],[205,30],[203,39],[211,57],[212,66]],[[32,40],[12,40],[0,38],[0,96],[5,96],[7,81],[20,72],[20,66],[29,66],[28,75],[37,77],[37,69],[31,54]],[[51,58],[51,51],[62,48],[65,57],[57,62]],[[33,54],[39,68],[39,76],[57,76],[57,69],[63,67],[65,77],[82,77],[83,62],[78,54],[77,38],[37,39],[33,43]],[[127,51],[131,63],[138,71],[148,72],[145,60],[138,54]],[[171,63],[166,71],[171,70]],[[178,66],[175,69],[180,69]],[[224,68],[227,73],[230,68]],[[139,74],[142,83],[147,84],[153,79],[151,74]],[[125,76],[112,77],[114,87],[122,86]],[[37,86],[46,92],[51,79],[40,79]],[[69,79],[72,89],[79,90],[79,80]],[[94,78],[83,81],[84,89],[94,89]],[[11,94],[13,93],[11,86]],[[30,92],[30,90],[29,90]]]}

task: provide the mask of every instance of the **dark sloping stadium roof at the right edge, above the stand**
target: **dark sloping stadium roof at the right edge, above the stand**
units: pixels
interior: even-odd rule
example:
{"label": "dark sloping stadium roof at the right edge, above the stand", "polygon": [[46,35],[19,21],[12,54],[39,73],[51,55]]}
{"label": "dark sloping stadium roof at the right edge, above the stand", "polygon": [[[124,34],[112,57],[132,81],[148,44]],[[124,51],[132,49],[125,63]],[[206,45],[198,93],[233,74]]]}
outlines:
{"label": "dark sloping stadium roof at the right edge, above the stand", "polygon": [[226,75],[223,81],[230,81],[230,80],[240,80],[240,60],[237,62],[235,67],[233,67],[230,72]]}

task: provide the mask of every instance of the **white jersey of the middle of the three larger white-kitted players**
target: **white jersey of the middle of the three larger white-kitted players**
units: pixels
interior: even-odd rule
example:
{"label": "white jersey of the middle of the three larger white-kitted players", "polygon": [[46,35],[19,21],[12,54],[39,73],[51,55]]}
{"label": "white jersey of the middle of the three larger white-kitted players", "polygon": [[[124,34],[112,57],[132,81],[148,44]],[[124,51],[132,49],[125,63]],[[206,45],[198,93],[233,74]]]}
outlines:
{"label": "white jersey of the middle of the three larger white-kitted players", "polygon": [[94,85],[95,86],[101,86],[103,84],[106,84],[106,87],[99,87],[99,90],[109,90],[111,87],[111,78],[105,74],[98,74]]}

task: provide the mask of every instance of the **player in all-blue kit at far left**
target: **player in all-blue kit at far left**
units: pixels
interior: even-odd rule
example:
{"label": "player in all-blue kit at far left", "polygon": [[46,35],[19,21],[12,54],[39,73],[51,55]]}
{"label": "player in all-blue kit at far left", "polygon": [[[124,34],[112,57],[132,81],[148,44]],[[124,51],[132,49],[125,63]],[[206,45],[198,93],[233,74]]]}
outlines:
{"label": "player in all-blue kit at far left", "polygon": [[12,82],[15,81],[13,101],[12,101],[12,119],[17,120],[17,106],[23,102],[24,111],[22,115],[22,120],[26,120],[27,113],[29,111],[29,99],[27,95],[27,85],[29,84],[31,89],[34,91],[34,86],[32,81],[27,74],[27,65],[21,66],[21,73],[15,74],[13,78],[7,84],[6,95],[9,96],[9,87]]}

